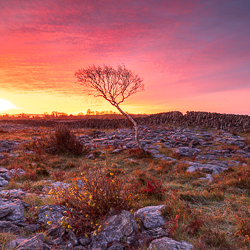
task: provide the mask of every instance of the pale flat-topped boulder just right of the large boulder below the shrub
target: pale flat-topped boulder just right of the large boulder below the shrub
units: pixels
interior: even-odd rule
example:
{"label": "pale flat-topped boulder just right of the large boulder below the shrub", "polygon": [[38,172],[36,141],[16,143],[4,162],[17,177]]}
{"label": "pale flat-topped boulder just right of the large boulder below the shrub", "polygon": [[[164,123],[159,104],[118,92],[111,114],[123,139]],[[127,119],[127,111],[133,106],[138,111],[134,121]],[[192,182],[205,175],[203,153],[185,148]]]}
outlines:
{"label": "pale flat-topped boulder just right of the large boulder below the shrub", "polygon": [[146,229],[161,227],[165,223],[161,214],[161,210],[164,208],[165,205],[140,208],[135,212],[134,216],[142,221]]}

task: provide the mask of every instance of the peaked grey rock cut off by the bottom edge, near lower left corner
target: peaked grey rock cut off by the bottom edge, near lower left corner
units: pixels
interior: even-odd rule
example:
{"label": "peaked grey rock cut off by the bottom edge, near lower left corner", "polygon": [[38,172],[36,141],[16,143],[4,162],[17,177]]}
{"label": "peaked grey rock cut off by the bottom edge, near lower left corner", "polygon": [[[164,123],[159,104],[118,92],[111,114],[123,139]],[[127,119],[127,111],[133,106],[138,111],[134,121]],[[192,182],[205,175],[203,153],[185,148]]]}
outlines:
{"label": "peaked grey rock cut off by the bottom edge, near lower left corner", "polygon": [[16,250],[50,250],[51,248],[45,243],[45,239],[42,234],[37,234],[19,244]]}

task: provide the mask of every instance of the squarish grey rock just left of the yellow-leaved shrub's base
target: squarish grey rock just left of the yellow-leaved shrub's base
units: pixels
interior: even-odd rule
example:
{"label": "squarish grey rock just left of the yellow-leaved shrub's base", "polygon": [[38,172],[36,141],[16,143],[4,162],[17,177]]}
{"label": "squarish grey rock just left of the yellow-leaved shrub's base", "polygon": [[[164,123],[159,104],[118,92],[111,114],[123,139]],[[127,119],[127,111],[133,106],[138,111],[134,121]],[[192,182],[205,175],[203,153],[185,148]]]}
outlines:
{"label": "squarish grey rock just left of the yellow-leaved shrub's base", "polygon": [[66,207],[59,205],[45,205],[41,206],[38,211],[38,223],[47,224],[48,221],[51,221],[53,225],[58,225],[63,213],[66,211]]}

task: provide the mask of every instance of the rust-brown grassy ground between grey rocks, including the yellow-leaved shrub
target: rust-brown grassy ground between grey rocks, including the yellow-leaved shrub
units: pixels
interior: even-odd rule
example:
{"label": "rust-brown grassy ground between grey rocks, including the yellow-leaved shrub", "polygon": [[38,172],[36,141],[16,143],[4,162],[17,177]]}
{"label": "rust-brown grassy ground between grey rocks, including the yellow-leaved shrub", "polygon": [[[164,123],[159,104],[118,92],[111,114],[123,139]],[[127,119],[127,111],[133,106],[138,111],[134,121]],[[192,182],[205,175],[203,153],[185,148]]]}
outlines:
{"label": "rust-brown grassy ground between grey rocks, including the yellow-leaved shrub", "polygon": [[[91,129],[71,131],[75,135],[91,132]],[[250,134],[240,135],[250,144]],[[73,150],[58,148],[51,153],[46,150],[49,145],[58,145],[54,132],[49,128],[1,132],[2,140],[28,140],[34,136],[41,136],[42,140],[23,145],[13,152],[19,157],[6,156],[0,162],[7,169],[22,168],[26,171],[24,175],[15,176],[5,189],[22,188],[30,193],[24,198],[32,205],[25,214],[27,221],[36,219],[39,207],[45,204],[73,206],[76,211],[84,210],[85,213],[80,218],[72,212],[71,217],[81,220],[86,226],[81,229],[73,222],[66,226],[72,227],[75,233],[85,230],[88,235],[98,228],[111,208],[126,208],[133,212],[140,207],[165,204],[162,213],[166,221],[170,221],[166,228],[171,238],[186,240],[194,245],[194,249],[250,249],[249,159],[234,158],[246,166],[229,168],[213,176],[214,181],[210,183],[199,180],[205,176],[203,173],[186,172],[188,165],[181,161],[191,159],[175,156],[173,149],[162,144],[160,153],[176,158],[177,164],[154,159],[140,150],[122,150],[113,154],[113,147],[96,147],[91,151],[96,156],[95,160],[86,159],[84,153],[77,153],[79,145],[72,146]],[[72,140],[73,145],[75,141]],[[216,145],[217,149],[225,147]],[[34,151],[34,154],[25,153],[26,150]],[[90,152],[84,145],[80,151]],[[71,188],[46,196],[42,189],[48,185],[48,180],[70,183]],[[89,183],[84,193],[77,188],[79,180]],[[105,192],[93,188],[91,183]],[[0,244],[7,238],[11,239],[11,235],[0,233]]]}

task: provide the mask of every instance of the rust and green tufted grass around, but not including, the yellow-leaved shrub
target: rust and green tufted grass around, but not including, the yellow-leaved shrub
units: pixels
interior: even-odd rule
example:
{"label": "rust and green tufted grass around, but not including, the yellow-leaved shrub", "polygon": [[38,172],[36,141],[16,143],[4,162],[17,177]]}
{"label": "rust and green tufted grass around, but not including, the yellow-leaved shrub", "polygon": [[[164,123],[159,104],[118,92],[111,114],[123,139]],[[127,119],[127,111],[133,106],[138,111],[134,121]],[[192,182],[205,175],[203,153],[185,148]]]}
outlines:
{"label": "rust and green tufted grass around, but not including, the yellow-leaved shrub", "polygon": [[[217,131],[211,131],[216,137]],[[93,130],[90,129],[72,130],[75,135],[92,132]],[[53,133],[51,128],[31,128],[10,134],[3,133],[1,136],[10,140],[30,139],[32,136],[40,135],[49,137],[51,133]],[[241,135],[246,138],[247,143],[250,142],[249,134]],[[192,243],[195,249],[250,248],[249,159],[242,159],[240,156],[232,158],[231,160],[238,160],[246,165],[229,168],[213,176],[214,181],[210,183],[199,179],[205,177],[203,173],[187,173],[188,165],[182,161],[192,159],[177,157],[173,154],[173,149],[166,148],[163,144],[160,153],[175,158],[177,164],[154,159],[148,155],[141,156],[136,151],[122,150],[119,154],[112,154],[113,145],[96,147],[94,150],[101,150],[103,154],[95,160],[69,153],[58,152],[51,155],[39,150],[33,154],[24,153],[24,148],[29,146],[17,148],[14,153],[18,153],[18,157],[6,157],[0,160],[1,166],[7,169],[22,168],[26,171],[24,176],[16,176],[10,181],[7,189],[22,188],[26,192],[33,193],[33,196],[24,198],[24,201],[33,208],[37,207],[28,212],[27,218],[35,216],[40,206],[58,202],[52,196],[39,196],[42,194],[43,186],[48,184],[46,181],[62,181],[75,187],[82,172],[91,175],[95,169],[100,168],[105,173],[113,173],[117,180],[129,183],[137,190],[134,195],[139,198],[138,207],[167,205],[163,215],[167,221],[172,221],[167,229],[170,230],[173,239],[186,240]],[[235,150],[232,146],[220,143],[215,146],[209,145],[208,149],[213,149],[213,147],[214,149]],[[201,163],[206,163],[206,161],[201,161]],[[145,191],[149,190],[148,181],[152,180],[161,183],[160,191],[157,189],[153,193]],[[60,197],[61,202],[62,200],[63,197]],[[101,223],[106,212],[98,216],[98,223]]]}

